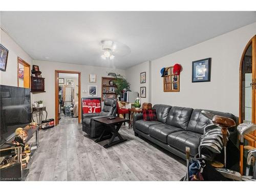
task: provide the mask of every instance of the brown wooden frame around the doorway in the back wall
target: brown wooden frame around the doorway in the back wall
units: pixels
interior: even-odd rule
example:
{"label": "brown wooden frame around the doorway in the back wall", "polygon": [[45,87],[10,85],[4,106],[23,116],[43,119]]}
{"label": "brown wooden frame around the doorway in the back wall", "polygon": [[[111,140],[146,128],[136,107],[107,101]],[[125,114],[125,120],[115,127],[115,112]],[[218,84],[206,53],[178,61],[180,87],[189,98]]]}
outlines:
{"label": "brown wooden frame around the doorway in the back wall", "polygon": [[78,74],[78,123],[80,123],[81,122],[81,72],[55,70],[55,125],[59,123],[59,120],[58,120],[58,107],[59,107],[58,74],[59,73]]}

